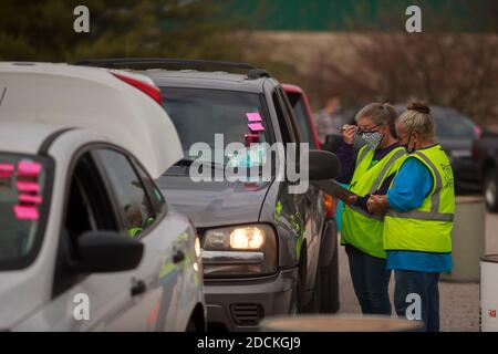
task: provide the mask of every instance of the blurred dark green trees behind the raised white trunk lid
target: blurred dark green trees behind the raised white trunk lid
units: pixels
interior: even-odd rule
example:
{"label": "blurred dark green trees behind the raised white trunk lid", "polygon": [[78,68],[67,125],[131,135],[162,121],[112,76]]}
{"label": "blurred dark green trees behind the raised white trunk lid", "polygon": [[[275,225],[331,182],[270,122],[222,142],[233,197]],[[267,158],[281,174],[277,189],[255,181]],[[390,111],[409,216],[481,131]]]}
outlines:
{"label": "blurred dark green trees behind the raised white trunk lid", "polygon": [[[90,9],[90,33],[73,30],[79,4]],[[1,7],[1,60],[240,56],[226,35],[235,22],[215,19],[215,0],[3,0]]]}

